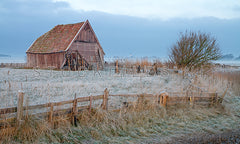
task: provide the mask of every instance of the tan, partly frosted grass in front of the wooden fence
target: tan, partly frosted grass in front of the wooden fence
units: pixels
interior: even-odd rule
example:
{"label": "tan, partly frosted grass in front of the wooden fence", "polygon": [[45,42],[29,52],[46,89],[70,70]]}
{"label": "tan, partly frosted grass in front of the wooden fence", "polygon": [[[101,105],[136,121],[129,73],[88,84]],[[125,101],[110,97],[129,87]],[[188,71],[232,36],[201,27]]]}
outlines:
{"label": "tan, partly frosted grass in front of the wooden fence", "polygon": [[52,125],[33,117],[21,127],[1,130],[4,143],[154,143],[197,132],[218,133],[240,122],[223,107],[188,105],[163,108],[142,99],[117,111],[92,109],[77,116],[77,126],[59,118]]}

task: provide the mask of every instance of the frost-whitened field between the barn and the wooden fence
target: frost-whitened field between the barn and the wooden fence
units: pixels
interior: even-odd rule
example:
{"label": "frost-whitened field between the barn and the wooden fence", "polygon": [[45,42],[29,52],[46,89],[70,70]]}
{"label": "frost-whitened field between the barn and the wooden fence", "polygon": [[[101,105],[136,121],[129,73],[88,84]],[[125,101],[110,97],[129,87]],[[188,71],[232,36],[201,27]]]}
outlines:
{"label": "frost-whitened field between the barn and the wooden fence", "polygon": [[[17,93],[25,92],[28,105],[65,101],[77,97],[103,94],[157,94],[162,91],[183,91],[189,84],[177,74],[115,74],[105,71],[52,71],[34,69],[0,68],[0,107],[16,106]],[[224,83],[220,83],[225,88]],[[210,85],[206,78],[199,78],[198,86],[222,91],[219,85]]]}

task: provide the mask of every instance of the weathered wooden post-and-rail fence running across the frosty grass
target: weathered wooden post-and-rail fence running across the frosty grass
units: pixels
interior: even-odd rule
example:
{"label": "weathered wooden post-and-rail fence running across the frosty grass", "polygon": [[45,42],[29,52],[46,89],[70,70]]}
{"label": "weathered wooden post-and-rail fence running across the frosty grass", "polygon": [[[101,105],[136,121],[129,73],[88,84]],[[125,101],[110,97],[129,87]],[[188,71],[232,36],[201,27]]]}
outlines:
{"label": "weathered wooden post-and-rail fence running across the frosty grass", "polygon": [[[8,127],[13,125],[21,124],[24,115],[28,114],[29,110],[36,110],[41,108],[47,108],[47,112],[33,113],[31,115],[37,116],[42,119],[48,120],[50,123],[53,122],[54,117],[66,116],[70,118],[73,124],[76,124],[76,116],[82,110],[89,110],[94,107],[93,101],[102,100],[101,108],[103,110],[109,110],[109,97],[135,97],[137,102],[139,99],[149,99],[157,105],[162,107],[168,107],[176,104],[186,104],[189,103],[193,105],[204,104],[212,105],[216,103],[221,103],[223,97],[219,97],[218,93],[190,93],[187,96],[179,96],[181,93],[166,93],[162,92],[160,94],[109,94],[107,89],[104,90],[103,95],[88,96],[88,97],[79,97],[76,95],[73,100],[62,101],[62,102],[50,102],[46,104],[32,105],[32,106],[23,106],[24,92],[19,91],[18,93],[18,104],[17,107],[3,108],[0,109],[0,128],[6,127],[6,122]],[[87,106],[79,106],[81,102],[88,102]],[[126,103],[126,102],[124,102]],[[70,104],[72,106],[64,109],[54,109],[56,106],[64,106]],[[7,117],[6,115],[14,114],[12,117]],[[5,117],[4,117],[5,116]]]}

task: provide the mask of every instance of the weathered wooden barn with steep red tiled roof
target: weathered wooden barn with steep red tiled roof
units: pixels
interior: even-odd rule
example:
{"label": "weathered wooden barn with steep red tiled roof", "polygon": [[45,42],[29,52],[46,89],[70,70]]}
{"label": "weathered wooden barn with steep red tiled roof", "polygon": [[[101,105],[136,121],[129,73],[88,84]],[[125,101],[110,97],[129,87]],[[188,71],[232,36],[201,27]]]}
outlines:
{"label": "weathered wooden barn with steep red tiled roof", "polygon": [[89,21],[57,25],[27,50],[27,66],[42,69],[102,69],[104,51]]}

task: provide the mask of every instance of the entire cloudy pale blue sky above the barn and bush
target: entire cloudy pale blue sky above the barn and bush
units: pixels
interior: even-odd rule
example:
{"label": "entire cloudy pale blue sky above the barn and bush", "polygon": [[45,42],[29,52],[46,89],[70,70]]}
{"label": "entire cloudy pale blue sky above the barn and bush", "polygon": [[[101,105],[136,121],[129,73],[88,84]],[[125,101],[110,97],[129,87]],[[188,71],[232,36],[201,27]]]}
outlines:
{"label": "entire cloudy pale blue sky above the barn and bush", "polygon": [[54,26],[86,19],[110,57],[167,57],[186,30],[240,56],[240,0],[0,0],[0,54],[25,56]]}

